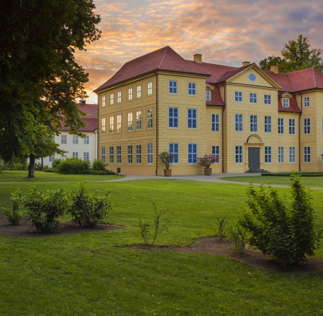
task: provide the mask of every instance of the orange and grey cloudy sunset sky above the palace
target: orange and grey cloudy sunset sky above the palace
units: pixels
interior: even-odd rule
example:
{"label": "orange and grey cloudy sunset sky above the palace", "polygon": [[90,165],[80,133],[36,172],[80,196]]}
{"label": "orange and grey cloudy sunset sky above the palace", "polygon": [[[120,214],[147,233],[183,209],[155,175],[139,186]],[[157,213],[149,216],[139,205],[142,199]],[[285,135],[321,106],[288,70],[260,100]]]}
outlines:
{"label": "orange and grey cloudy sunset sky above the palace", "polygon": [[323,48],[322,0],[94,0],[100,40],[75,54],[93,92],[127,61],[166,45],[185,59],[241,66],[279,56],[299,34]]}

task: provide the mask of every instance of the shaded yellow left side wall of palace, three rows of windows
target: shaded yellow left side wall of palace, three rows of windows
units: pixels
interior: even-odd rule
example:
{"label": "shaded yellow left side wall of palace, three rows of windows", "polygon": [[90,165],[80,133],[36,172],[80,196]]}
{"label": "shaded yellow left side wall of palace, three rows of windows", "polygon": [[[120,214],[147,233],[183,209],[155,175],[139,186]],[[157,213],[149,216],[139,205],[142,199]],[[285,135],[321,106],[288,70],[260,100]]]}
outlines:
{"label": "shaded yellow left side wall of palace, three rows of windows", "polygon": [[[152,83],[152,94],[148,95],[148,83]],[[137,86],[141,86],[141,96],[137,97]],[[132,99],[129,99],[129,88],[132,88]],[[121,102],[117,102],[117,93],[121,91]],[[113,105],[110,96],[114,95]],[[106,97],[103,106],[102,97]],[[102,159],[102,148],[105,148],[105,161],[108,169],[122,173],[156,174],[156,76],[133,80],[122,86],[107,89],[98,94],[99,99],[99,145],[98,155]],[[148,110],[152,110],[153,124],[148,126]],[[141,128],[136,126],[136,112],[142,113]],[[132,113],[132,130],[128,130],[128,114]],[[117,116],[121,115],[121,130],[117,131]],[[110,117],[113,118],[113,131],[110,131]],[[106,132],[102,130],[102,118],[106,118]],[[147,144],[152,144],[152,163],[148,163]],[[141,145],[141,163],[137,163],[136,149]],[[117,146],[121,146],[121,162],[117,162]],[[128,146],[132,146],[132,163],[128,163]],[[113,148],[113,161],[110,160],[110,147]],[[150,160],[151,161],[151,160]]]}

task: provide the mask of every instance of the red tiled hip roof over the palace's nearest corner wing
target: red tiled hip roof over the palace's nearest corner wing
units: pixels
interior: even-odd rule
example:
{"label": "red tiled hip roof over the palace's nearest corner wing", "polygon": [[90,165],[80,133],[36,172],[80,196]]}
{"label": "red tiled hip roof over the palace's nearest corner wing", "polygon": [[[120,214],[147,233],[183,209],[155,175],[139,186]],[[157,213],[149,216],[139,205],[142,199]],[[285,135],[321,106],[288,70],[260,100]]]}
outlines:
{"label": "red tiled hip roof over the palace's nearest corner wing", "polygon": [[108,81],[100,85],[94,92],[107,88],[113,84],[136,78],[155,70],[200,74],[209,76],[198,66],[186,61],[170,46],[165,46],[144,56],[125,63]]}

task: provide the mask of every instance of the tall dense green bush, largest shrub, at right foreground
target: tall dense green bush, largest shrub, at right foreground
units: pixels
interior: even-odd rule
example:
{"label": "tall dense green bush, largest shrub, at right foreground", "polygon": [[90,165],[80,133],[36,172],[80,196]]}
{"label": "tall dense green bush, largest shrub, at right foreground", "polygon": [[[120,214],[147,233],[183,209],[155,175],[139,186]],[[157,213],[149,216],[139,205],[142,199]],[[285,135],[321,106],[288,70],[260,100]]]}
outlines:
{"label": "tall dense green bush, largest shrub, at right foreground", "polygon": [[322,237],[315,228],[310,194],[305,192],[300,177],[291,176],[292,202],[287,207],[277,191],[261,186],[256,192],[248,190],[248,205],[241,225],[251,232],[250,243],[263,254],[272,255],[284,269],[312,256]]}

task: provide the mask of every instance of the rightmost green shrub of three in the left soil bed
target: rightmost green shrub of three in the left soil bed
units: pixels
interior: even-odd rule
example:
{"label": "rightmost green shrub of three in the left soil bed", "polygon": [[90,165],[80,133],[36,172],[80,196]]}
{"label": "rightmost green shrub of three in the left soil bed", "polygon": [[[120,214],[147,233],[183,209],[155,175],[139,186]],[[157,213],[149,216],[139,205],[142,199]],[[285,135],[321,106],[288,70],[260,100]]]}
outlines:
{"label": "rightmost green shrub of three in the left soil bed", "polygon": [[78,190],[72,193],[71,198],[72,204],[69,206],[68,213],[71,213],[74,224],[85,227],[108,224],[105,218],[108,210],[112,209],[108,191],[102,197],[96,197],[89,194],[84,183],[81,183]]}

